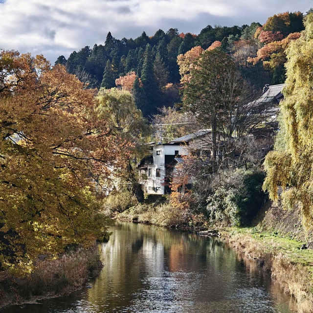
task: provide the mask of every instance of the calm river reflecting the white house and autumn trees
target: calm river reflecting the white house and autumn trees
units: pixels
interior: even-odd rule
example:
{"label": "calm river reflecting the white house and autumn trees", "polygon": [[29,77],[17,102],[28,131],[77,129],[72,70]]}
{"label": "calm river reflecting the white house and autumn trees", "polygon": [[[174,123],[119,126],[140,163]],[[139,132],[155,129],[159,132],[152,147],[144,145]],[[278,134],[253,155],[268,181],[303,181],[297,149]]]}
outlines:
{"label": "calm river reflecting the white house and autumn trees", "polygon": [[130,223],[111,231],[89,288],[3,313],[295,312],[289,296],[220,240]]}

